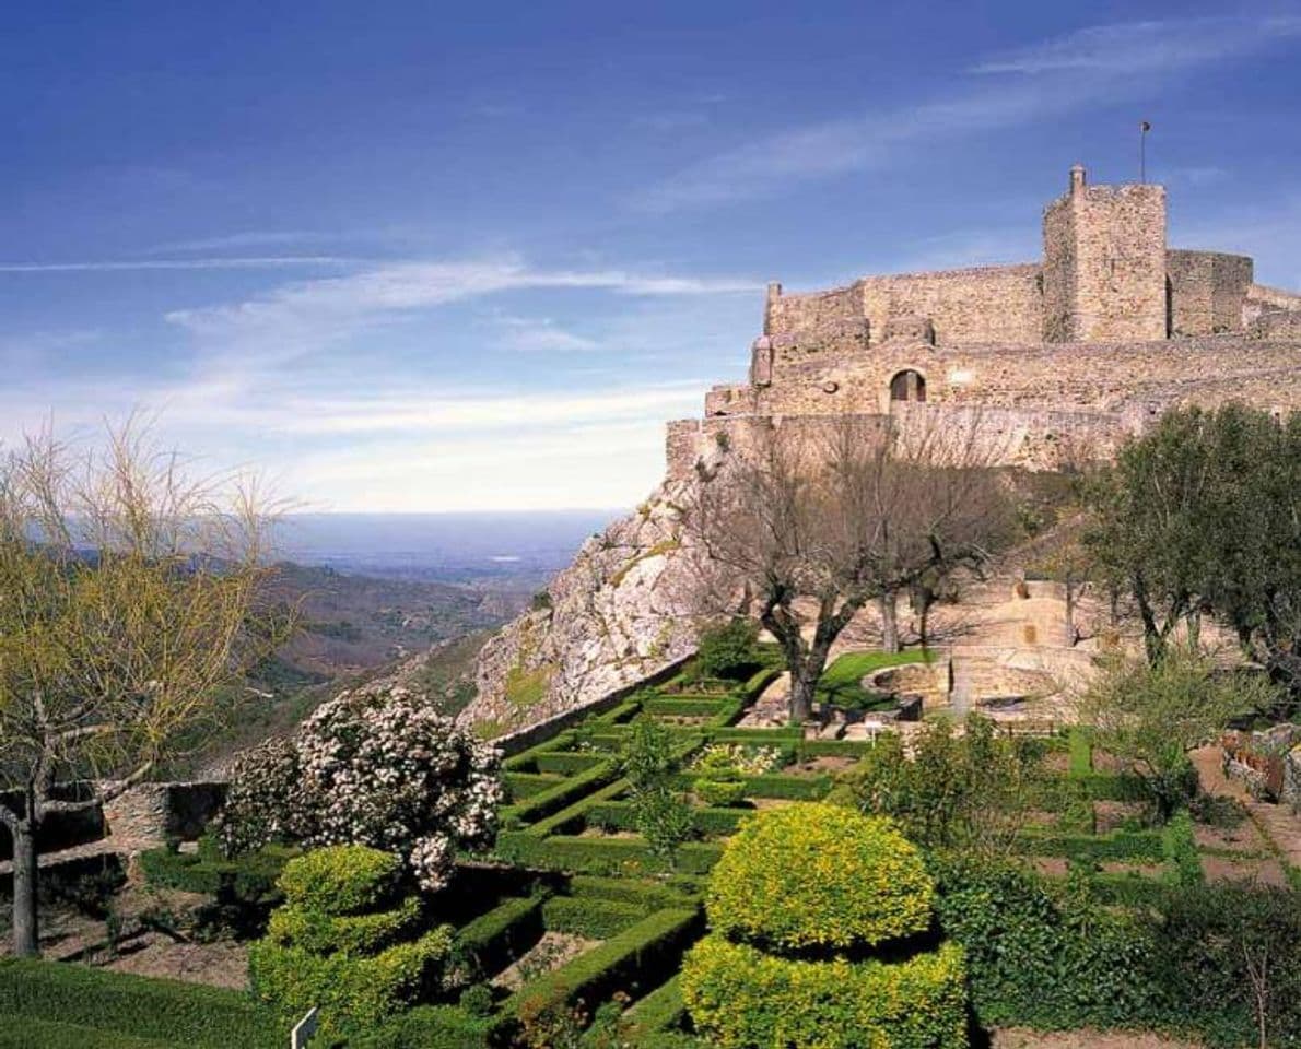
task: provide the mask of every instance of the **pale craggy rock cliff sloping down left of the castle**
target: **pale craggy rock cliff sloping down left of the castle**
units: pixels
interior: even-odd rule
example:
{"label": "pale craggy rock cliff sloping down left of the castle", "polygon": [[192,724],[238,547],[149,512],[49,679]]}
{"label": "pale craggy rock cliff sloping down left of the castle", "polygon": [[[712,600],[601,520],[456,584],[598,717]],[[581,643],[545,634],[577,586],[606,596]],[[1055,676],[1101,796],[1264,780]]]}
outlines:
{"label": "pale craggy rock cliff sloping down left of the castle", "polygon": [[533,608],[488,641],[462,723],[490,736],[523,728],[692,653],[700,582],[680,545],[691,484],[661,486],[588,539]]}

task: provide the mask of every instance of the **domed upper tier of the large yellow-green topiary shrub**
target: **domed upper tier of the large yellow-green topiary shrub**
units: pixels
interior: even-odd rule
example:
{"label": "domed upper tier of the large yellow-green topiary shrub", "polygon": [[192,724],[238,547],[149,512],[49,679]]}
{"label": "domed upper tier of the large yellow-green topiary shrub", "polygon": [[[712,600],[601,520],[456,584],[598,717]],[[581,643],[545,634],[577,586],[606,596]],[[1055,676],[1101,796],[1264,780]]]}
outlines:
{"label": "domed upper tier of the large yellow-green topiary shrub", "polygon": [[747,823],[713,870],[714,932],[778,949],[848,948],[925,932],[934,885],[887,819],[792,805]]}

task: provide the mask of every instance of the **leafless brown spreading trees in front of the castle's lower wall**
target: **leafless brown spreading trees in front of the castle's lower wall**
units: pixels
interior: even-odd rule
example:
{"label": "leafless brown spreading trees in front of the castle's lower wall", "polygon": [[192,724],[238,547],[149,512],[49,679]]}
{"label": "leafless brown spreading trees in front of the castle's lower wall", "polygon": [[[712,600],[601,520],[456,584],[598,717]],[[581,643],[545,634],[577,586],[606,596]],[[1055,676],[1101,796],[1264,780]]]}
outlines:
{"label": "leafless brown spreading trees in front of the castle's lower wall", "polygon": [[977,425],[846,416],[812,434],[779,426],[701,478],[683,536],[706,601],[729,610],[740,591],[757,608],[791,673],[792,720],[811,716],[831,645],[861,608],[881,603],[896,650],[899,595],[978,568],[1011,534],[991,458]]}

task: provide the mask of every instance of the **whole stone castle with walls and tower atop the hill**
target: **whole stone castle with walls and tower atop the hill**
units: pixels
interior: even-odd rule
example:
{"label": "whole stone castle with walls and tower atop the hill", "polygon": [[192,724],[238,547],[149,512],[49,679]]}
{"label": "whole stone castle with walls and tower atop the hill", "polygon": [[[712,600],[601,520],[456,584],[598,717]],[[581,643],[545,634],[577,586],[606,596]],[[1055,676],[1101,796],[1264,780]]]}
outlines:
{"label": "whole stone castle with walls and tower atop the hill", "polygon": [[846,413],[978,419],[1000,459],[1051,468],[1110,455],[1176,404],[1301,409],[1301,295],[1253,270],[1167,247],[1163,186],[1090,186],[1077,165],[1043,211],[1039,263],[769,285],[748,381],[669,424],[669,478],[714,443]]}

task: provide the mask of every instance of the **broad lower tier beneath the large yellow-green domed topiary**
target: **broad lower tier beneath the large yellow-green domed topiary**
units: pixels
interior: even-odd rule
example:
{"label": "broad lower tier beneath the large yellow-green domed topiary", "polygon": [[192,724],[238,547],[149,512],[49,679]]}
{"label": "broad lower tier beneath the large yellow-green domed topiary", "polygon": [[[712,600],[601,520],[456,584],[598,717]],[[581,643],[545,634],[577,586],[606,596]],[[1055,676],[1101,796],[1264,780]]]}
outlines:
{"label": "broad lower tier beneath the large yellow-green domed topiary", "polygon": [[960,1049],[965,979],[956,944],[895,963],[805,962],[710,935],[683,962],[682,996],[719,1049]]}

